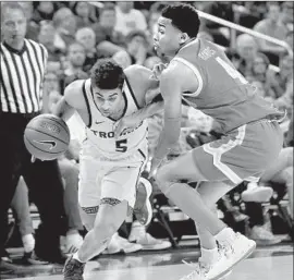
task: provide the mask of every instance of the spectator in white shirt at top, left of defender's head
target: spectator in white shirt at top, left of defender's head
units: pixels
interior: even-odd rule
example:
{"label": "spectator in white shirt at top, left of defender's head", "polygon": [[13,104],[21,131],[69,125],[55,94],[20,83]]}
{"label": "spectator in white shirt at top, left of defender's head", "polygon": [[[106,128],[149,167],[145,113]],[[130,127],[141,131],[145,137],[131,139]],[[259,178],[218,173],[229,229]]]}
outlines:
{"label": "spectator in white shirt at top, left of defender's head", "polygon": [[117,23],[114,29],[127,36],[132,31],[147,31],[147,22],[144,14],[134,9],[133,1],[119,1],[115,7]]}

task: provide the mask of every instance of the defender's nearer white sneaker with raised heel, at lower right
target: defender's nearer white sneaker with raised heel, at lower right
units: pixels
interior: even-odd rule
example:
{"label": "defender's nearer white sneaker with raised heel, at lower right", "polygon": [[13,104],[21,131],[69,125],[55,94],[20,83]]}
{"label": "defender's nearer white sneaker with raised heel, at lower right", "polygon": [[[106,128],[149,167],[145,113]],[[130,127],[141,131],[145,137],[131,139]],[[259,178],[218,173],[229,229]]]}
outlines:
{"label": "defender's nearer white sneaker with raised heel, at lower right", "polygon": [[234,240],[221,245],[220,259],[206,273],[206,280],[217,280],[225,276],[240,261],[247,258],[256,248],[256,243],[241,233],[235,233]]}

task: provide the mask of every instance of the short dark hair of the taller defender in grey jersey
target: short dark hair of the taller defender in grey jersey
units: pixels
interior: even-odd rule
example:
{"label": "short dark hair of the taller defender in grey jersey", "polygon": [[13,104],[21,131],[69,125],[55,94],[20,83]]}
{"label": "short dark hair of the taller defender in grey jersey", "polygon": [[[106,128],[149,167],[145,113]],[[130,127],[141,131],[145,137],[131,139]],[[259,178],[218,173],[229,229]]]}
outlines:
{"label": "short dark hair of the taller defender in grey jersey", "polygon": [[191,38],[197,37],[200,20],[197,10],[192,4],[176,3],[167,5],[161,15],[170,19],[172,25]]}

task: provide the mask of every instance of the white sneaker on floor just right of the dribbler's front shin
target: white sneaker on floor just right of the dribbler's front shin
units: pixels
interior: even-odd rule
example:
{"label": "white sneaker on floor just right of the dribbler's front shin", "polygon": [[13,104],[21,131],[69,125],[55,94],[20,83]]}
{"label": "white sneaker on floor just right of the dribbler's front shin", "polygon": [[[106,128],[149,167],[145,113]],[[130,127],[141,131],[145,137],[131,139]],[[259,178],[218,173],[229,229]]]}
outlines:
{"label": "white sneaker on floor just right of the dribbler's front shin", "polygon": [[118,254],[118,253],[124,253],[130,254],[134,252],[138,252],[142,249],[142,245],[134,244],[128,242],[126,239],[123,239],[119,235],[118,232],[115,232],[110,242],[108,243],[107,248],[105,249],[103,254]]}

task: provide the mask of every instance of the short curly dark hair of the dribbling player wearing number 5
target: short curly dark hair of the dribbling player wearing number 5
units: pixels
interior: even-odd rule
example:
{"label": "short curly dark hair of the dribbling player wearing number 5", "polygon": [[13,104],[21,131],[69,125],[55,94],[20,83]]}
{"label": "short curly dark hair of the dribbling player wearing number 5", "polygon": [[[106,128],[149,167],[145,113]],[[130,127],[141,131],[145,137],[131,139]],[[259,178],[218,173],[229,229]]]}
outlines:
{"label": "short curly dark hair of the dribbling player wearing number 5", "polygon": [[90,71],[90,83],[101,89],[122,88],[125,74],[113,59],[99,59]]}

